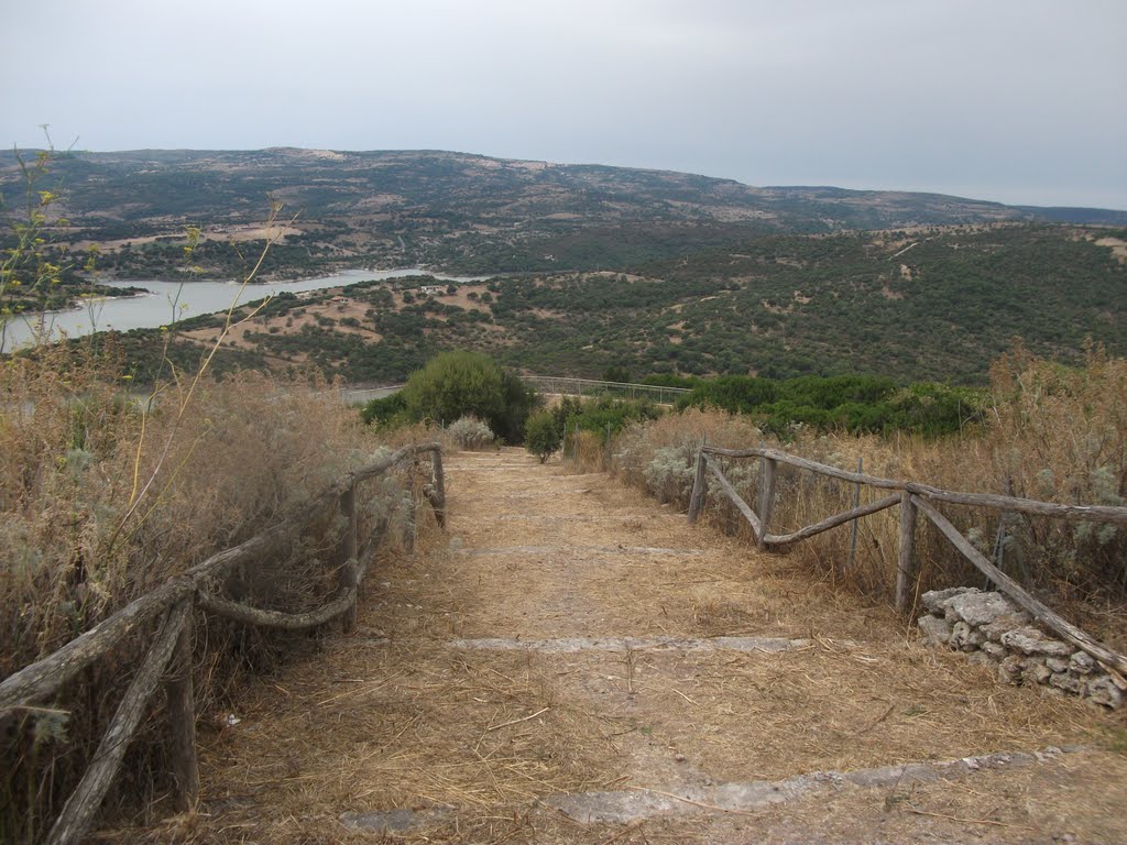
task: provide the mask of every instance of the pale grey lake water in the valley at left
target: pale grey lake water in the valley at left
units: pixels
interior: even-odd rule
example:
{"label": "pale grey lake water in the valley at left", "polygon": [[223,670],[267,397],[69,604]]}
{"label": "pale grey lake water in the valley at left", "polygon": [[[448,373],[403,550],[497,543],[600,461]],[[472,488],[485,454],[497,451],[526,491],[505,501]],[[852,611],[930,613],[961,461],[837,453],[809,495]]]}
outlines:
{"label": "pale grey lake water in the valley at left", "polygon": [[[81,337],[95,331],[117,329],[152,329],[167,326],[172,321],[174,312],[177,319],[184,320],[214,311],[225,311],[239,297],[240,303],[260,300],[278,293],[300,293],[302,291],[320,291],[326,287],[353,285],[369,279],[387,279],[401,276],[428,275],[443,282],[480,282],[488,276],[444,276],[418,268],[396,270],[344,270],[332,276],[305,278],[300,282],[270,282],[247,285],[239,293],[239,286],[233,282],[107,282],[109,287],[143,287],[149,291],[141,296],[123,296],[92,300],[81,308],[71,311],[48,311],[44,313],[44,327],[51,330],[51,337],[57,338],[62,332],[66,337]],[[39,315],[26,319],[14,319],[5,327],[3,350],[9,352],[28,344],[37,332]],[[29,322],[30,321],[30,322]]]}

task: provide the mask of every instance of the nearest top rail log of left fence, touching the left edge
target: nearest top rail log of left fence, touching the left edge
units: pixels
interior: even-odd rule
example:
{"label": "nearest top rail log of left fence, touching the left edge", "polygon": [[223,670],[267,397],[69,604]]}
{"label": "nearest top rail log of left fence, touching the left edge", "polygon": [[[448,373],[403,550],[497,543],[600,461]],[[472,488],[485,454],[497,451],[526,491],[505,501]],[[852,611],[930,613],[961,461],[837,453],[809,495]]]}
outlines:
{"label": "nearest top rail log of left fence, touching the left edge", "polygon": [[51,695],[140,625],[190,595],[194,589],[190,578],[168,581],[125,605],[48,657],[9,675],[0,684],[0,711]]}

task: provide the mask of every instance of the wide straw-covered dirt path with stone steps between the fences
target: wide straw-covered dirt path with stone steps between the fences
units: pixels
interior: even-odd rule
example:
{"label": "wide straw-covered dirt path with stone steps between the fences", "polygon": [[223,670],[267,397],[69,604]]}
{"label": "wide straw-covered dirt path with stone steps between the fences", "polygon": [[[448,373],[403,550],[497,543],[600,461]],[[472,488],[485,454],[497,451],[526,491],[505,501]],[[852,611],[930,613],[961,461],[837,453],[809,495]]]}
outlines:
{"label": "wide straw-covered dirt path with stone steps between the fences", "polygon": [[605,475],[462,453],[447,489],[355,632],[204,736],[197,840],[1127,840],[1121,720]]}

